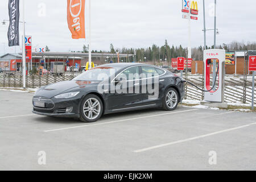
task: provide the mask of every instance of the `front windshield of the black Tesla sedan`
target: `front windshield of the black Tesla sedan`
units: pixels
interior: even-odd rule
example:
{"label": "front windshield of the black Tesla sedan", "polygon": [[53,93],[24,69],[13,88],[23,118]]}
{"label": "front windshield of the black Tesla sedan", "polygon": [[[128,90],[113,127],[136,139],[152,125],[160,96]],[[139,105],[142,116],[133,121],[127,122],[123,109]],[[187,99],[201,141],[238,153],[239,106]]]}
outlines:
{"label": "front windshield of the black Tesla sedan", "polygon": [[89,69],[81,75],[75,77],[75,81],[103,81],[114,75],[118,68],[113,67],[96,67]]}

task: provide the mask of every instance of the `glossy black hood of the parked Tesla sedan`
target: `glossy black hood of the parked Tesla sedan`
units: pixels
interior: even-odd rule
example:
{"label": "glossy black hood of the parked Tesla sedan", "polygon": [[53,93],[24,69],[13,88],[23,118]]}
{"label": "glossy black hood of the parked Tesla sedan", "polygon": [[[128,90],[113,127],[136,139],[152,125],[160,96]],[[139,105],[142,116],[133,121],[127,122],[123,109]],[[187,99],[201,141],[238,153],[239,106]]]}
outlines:
{"label": "glossy black hood of the parked Tesla sedan", "polygon": [[98,81],[61,81],[40,88],[34,96],[52,98],[61,93],[77,92],[97,86]]}

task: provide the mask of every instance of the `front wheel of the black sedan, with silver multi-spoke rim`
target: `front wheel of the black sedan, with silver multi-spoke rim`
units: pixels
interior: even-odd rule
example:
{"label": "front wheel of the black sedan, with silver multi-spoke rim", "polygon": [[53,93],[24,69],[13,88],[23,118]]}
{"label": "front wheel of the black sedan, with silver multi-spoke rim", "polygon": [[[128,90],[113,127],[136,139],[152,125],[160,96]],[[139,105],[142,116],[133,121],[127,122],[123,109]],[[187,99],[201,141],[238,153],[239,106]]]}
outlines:
{"label": "front wheel of the black sedan, with silver multi-spoke rim", "polygon": [[96,122],[103,113],[103,104],[100,97],[89,94],[85,96],[80,106],[80,120],[82,122]]}

